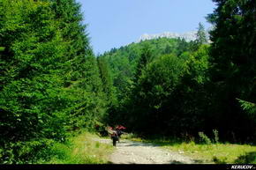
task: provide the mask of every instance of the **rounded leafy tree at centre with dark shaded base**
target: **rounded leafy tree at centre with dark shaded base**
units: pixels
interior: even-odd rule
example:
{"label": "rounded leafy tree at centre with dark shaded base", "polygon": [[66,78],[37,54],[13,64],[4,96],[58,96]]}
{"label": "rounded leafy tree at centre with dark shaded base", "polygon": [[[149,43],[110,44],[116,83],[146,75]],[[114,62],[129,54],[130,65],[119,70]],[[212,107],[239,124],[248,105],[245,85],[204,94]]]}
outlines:
{"label": "rounded leafy tree at centre with dark shaded base", "polygon": [[[148,129],[149,125],[154,124],[155,129],[167,126],[172,122],[163,122],[169,120],[169,98],[171,98],[180,78],[184,72],[184,62],[175,55],[162,55],[149,63],[146,70],[142,72],[137,85],[137,89],[132,93],[132,105],[136,105],[132,113],[132,118],[136,121],[132,126],[137,129]],[[168,83],[167,83],[168,82]],[[138,114],[140,113],[140,114]],[[144,120],[147,117],[147,120]],[[140,123],[137,124],[136,122]]]}

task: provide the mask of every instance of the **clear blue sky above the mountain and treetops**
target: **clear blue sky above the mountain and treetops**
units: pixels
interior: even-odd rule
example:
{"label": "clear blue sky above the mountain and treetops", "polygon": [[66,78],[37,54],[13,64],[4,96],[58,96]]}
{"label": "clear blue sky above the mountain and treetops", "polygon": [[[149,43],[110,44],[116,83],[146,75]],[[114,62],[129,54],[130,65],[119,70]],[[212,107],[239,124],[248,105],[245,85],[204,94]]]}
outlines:
{"label": "clear blue sky above the mountain and treetops", "polygon": [[144,34],[185,33],[207,29],[212,0],[77,0],[94,54],[138,41]]}

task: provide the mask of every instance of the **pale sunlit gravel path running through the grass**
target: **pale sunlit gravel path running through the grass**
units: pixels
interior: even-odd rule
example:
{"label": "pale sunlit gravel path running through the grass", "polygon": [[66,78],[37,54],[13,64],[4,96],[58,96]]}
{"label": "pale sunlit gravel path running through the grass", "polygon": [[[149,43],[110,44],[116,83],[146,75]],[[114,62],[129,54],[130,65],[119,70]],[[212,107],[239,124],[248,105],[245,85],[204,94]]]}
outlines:
{"label": "pale sunlit gravel path running through the grass", "polygon": [[[95,139],[112,144],[110,139]],[[117,150],[110,156],[113,164],[192,164],[192,159],[177,152],[170,152],[154,144],[122,140]]]}

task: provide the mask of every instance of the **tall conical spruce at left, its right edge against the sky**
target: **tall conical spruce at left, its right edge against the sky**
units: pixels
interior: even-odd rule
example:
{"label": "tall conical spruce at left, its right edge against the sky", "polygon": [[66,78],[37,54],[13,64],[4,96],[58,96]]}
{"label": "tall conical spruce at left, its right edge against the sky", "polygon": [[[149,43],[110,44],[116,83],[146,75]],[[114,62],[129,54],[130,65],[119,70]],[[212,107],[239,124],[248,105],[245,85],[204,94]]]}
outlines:
{"label": "tall conical spruce at left, its right edge against the sky", "polygon": [[[102,80],[89,44],[87,25],[83,24],[80,4],[75,0],[51,0],[65,41],[63,64],[67,114],[72,129],[92,129],[104,115]],[[72,96],[72,97],[68,97]]]}

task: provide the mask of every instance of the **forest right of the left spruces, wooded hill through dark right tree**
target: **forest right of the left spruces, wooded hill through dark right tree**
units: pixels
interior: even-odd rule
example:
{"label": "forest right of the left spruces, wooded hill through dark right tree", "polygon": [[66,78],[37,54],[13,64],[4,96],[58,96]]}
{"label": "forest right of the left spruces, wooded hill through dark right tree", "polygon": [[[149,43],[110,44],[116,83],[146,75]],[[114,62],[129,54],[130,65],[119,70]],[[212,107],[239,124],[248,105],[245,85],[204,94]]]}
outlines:
{"label": "forest right of the left spruces, wooded hill through dark right tree", "polygon": [[119,101],[110,121],[144,135],[216,129],[223,141],[255,140],[255,2],[215,3],[210,44],[200,25],[196,41],[141,41],[99,56]]}

